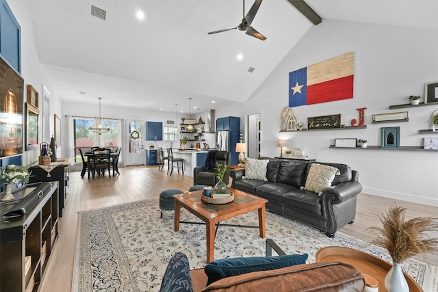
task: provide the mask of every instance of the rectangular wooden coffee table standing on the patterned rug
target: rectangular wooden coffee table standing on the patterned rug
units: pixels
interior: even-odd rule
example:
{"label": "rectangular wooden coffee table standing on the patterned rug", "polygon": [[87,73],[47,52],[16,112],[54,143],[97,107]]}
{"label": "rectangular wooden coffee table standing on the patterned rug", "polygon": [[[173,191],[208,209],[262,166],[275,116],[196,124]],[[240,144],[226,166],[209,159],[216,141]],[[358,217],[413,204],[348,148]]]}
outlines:
{"label": "rectangular wooden coffee table standing on the patterned rug", "polygon": [[[246,194],[237,189],[231,189],[234,193],[233,202],[227,204],[208,204],[201,200],[202,190],[189,191],[188,193],[173,196],[175,198],[175,231],[179,231],[181,209],[184,207],[190,213],[196,215],[199,219],[205,222],[207,229],[207,263],[214,260],[214,237],[215,226],[219,222],[248,213],[250,211],[259,211],[259,231],[260,237],[266,237],[265,230],[265,204],[268,200]],[[181,222],[194,223],[194,222]],[[229,224],[220,224],[229,226]],[[246,227],[246,226],[245,226]],[[254,227],[254,226],[250,226]]]}

